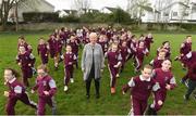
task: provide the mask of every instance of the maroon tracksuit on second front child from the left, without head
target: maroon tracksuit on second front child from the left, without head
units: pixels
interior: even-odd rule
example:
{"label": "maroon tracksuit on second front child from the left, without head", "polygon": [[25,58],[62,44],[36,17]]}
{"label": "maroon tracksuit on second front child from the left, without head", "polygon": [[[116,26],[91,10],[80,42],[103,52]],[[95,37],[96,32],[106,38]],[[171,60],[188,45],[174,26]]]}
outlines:
{"label": "maroon tracksuit on second front child from the left, without head", "polygon": [[[38,115],[45,115],[45,107],[48,104],[52,107],[52,114],[56,112],[56,102],[54,102],[54,94],[57,92],[57,86],[54,80],[49,76],[45,76],[42,78],[37,77],[36,86],[33,90],[37,90],[39,100],[38,100]],[[49,95],[46,95],[44,91],[48,91]]]}

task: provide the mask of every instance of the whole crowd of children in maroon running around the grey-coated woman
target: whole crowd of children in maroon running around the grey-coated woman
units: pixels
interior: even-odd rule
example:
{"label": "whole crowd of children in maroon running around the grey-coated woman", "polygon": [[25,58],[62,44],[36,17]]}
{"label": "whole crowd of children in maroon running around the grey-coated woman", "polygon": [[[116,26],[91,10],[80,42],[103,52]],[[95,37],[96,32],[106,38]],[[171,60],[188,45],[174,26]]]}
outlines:
{"label": "whole crowd of children in maroon running around the grey-coated woman", "polygon": [[[132,77],[131,80],[122,87],[122,93],[131,91],[131,115],[156,115],[162,107],[168,90],[176,87],[175,77],[172,74],[171,47],[170,41],[163,41],[157,49],[156,57],[148,64],[144,65],[145,56],[150,53],[150,44],[154,43],[152,35],[140,35],[138,38],[130,30],[122,28],[86,28],[68,29],[62,27],[56,29],[46,41],[39,38],[37,53],[40,56],[41,65],[35,69],[35,56],[33,48],[25,40],[24,36],[19,37],[16,63],[22,70],[23,82],[16,78],[19,74],[12,68],[4,69],[4,85],[10,90],[4,91],[8,96],[7,114],[14,115],[14,106],[17,100],[34,107],[38,115],[45,114],[45,106],[48,104],[52,107],[52,114],[56,114],[54,94],[57,86],[54,79],[48,75],[47,64],[49,57],[53,60],[53,66],[57,70],[59,63],[64,63],[64,91],[69,90],[69,82],[74,82],[74,67],[78,68],[78,52],[82,46],[89,42],[89,34],[94,31],[98,34],[98,41],[102,48],[106,59],[108,59],[108,68],[111,78],[111,94],[115,93],[117,78],[123,73],[128,60],[133,60],[135,74],[139,70],[140,75]],[[65,48],[65,52],[63,52]],[[185,37],[185,41],[180,48],[180,55],[174,59],[180,61],[183,68],[187,69],[187,74],[182,78],[182,83],[187,83],[187,92],[185,100],[189,99],[191,93],[196,87],[196,52],[192,51],[192,36]],[[75,66],[74,66],[75,65]],[[144,66],[143,66],[144,65]],[[128,65],[126,65],[128,67]],[[26,92],[29,87],[28,78],[37,73],[36,85],[32,89],[32,93],[38,92],[38,105],[30,101]],[[188,82],[186,80],[189,78]],[[148,105],[148,99],[152,92],[154,103]]]}

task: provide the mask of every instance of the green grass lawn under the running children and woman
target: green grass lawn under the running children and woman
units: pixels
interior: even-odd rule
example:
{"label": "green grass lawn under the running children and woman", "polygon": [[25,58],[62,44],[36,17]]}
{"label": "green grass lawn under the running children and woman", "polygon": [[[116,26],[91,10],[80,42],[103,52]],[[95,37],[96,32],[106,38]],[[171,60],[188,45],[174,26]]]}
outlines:
{"label": "green grass lawn under the running children and woman", "polygon": [[[40,64],[40,59],[37,55],[37,43],[39,37],[46,37],[50,33],[27,33],[22,34],[26,37],[27,42],[33,46],[34,54],[36,55],[36,66]],[[3,68],[13,67],[20,70],[20,67],[15,63],[17,37],[21,34],[17,33],[3,33],[0,34],[0,115],[5,114],[7,98],[3,96],[3,91],[8,90],[3,86]],[[138,34],[139,35],[139,34]],[[145,63],[149,63],[156,56],[156,50],[160,47],[161,42],[169,40],[171,42],[172,59],[179,54],[180,44],[183,42],[186,34],[154,34],[154,44],[151,47],[151,53],[145,59]],[[193,35],[193,50],[196,50],[196,35]],[[81,54],[81,53],[79,53]],[[81,59],[81,55],[79,55]],[[79,62],[81,64],[81,62]],[[185,75],[185,70],[182,69],[179,62],[173,62],[172,72],[177,81],[177,87],[168,92],[168,98],[164,106],[159,112],[161,115],[194,115],[196,114],[196,100],[191,98],[188,102],[183,100],[183,94],[186,88],[179,81]],[[74,70],[75,82],[70,83],[69,92],[63,92],[63,65],[60,64],[58,72],[53,68],[53,61],[49,62],[49,74],[54,78],[58,86],[58,93],[56,94],[56,101],[58,105],[58,114],[60,115],[126,115],[130,112],[130,94],[122,95],[121,87],[128,81],[128,78],[135,76],[132,61],[125,66],[124,72],[120,75],[117,81],[117,94],[110,94],[110,77],[108,68],[105,68],[102,73],[101,86],[100,86],[100,99],[95,98],[94,82],[90,89],[90,100],[85,98],[85,85],[83,81],[83,74],[79,69]],[[35,77],[30,79],[30,87],[35,85]],[[28,89],[27,91],[29,91]],[[30,99],[37,102],[37,94],[29,93]],[[47,114],[51,114],[51,109],[47,106]],[[21,102],[17,102],[15,106],[16,114],[30,115],[35,114],[35,111]]]}

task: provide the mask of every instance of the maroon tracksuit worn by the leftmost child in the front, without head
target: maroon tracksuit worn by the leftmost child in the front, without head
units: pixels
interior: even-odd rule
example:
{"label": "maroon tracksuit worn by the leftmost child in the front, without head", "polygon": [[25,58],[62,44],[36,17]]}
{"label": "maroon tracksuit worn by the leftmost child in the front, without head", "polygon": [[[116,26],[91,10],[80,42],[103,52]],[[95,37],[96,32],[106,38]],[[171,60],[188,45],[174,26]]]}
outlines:
{"label": "maroon tracksuit worn by the leftmost child in the front, without head", "polygon": [[28,98],[28,94],[25,91],[24,86],[16,80],[16,78],[13,78],[11,81],[8,81],[7,85],[10,88],[9,91],[9,99],[7,102],[7,115],[15,115],[14,106],[20,100],[26,105],[32,106],[33,108],[37,108],[37,104],[30,101]]}

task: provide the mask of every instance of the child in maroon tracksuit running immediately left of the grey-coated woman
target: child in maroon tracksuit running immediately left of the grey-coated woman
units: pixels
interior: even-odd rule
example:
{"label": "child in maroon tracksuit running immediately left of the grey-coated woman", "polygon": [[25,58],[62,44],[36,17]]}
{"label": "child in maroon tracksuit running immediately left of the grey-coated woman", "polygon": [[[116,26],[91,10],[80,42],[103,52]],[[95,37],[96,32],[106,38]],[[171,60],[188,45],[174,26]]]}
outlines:
{"label": "child in maroon tracksuit running immediately left of the grey-coated woman", "polygon": [[71,82],[74,82],[73,65],[76,61],[76,55],[72,52],[72,47],[70,44],[66,46],[66,52],[62,55],[62,59],[64,59],[64,91],[68,91],[69,81],[71,80]]}

